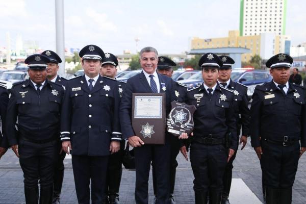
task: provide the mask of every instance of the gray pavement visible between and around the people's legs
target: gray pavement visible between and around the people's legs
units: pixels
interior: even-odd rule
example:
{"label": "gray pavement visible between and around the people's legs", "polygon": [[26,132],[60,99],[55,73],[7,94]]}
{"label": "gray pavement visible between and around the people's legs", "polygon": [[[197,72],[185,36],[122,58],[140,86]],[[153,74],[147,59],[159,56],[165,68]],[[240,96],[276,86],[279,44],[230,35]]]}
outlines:
{"label": "gray pavement visible between and around the people's legs", "polygon": [[[178,204],[194,203],[193,174],[190,162],[183,156],[177,157],[179,166],[177,167],[175,183],[175,200]],[[294,204],[306,203],[306,155],[299,161],[295,184],[293,186]],[[74,189],[73,171],[71,160],[65,159],[65,176],[61,196],[61,203],[78,203]],[[262,201],[261,169],[259,160],[250,144],[243,151],[239,150],[234,162],[233,177],[242,179],[247,187]],[[241,186],[241,188],[244,188]],[[132,204],[134,201],[135,171],[123,170],[120,186],[121,203]],[[149,180],[149,203],[153,198],[151,176]],[[233,196],[239,195],[239,187],[235,188]],[[241,189],[242,191],[242,189]],[[241,197],[243,199],[243,197]],[[0,160],[0,203],[18,204],[24,202],[23,194],[23,174],[19,166],[18,159],[11,149]],[[232,204],[235,204],[232,202]]]}

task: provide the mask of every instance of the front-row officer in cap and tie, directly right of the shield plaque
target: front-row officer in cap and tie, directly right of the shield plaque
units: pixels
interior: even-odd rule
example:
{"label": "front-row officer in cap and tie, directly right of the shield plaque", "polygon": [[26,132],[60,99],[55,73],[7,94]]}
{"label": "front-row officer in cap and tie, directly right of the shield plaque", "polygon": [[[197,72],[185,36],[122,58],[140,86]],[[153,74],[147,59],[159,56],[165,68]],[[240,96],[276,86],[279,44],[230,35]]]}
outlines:
{"label": "front-row officer in cap and tie, directly right of the shield plaque", "polygon": [[209,203],[219,204],[226,164],[238,146],[234,94],[233,90],[217,83],[222,66],[217,55],[203,55],[199,66],[204,82],[188,89],[186,100],[186,104],[197,108],[193,115],[194,129],[190,146],[195,203],[206,204],[209,192]]}

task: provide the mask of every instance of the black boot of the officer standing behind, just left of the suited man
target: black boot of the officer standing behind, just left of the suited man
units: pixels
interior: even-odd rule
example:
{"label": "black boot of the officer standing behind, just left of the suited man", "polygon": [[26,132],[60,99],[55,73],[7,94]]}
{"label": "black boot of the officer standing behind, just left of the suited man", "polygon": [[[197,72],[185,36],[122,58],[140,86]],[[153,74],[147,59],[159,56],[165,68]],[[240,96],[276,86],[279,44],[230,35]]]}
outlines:
{"label": "black boot of the officer standing behind, just left of the suited man", "polygon": [[119,204],[119,187],[122,176],[122,169],[116,169],[109,172],[112,178],[109,182],[109,202],[110,204]]}

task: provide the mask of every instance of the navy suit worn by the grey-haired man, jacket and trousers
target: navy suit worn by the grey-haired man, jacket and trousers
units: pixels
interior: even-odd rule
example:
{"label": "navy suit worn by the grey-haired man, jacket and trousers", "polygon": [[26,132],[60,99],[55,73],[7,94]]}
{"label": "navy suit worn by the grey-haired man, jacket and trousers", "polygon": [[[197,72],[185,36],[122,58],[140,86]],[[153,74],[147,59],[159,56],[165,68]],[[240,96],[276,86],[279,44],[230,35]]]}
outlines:
{"label": "navy suit worn by the grey-haired man, jacket and trousers", "polygon": [[[155,74],[160,84],[159,92],[166,93],[166,115],[168,115],[171,110],[171,102],[175,100],[173,80],[157,72]],[[132,93],[152,93],[144,71],[127,80],[121,97],[120,123],[123,138],[125,139],[135,135],[131,122]],[[141,147],[134,147],[136,161],[136,203],[148,203],[148,178],[151,161],[154,162],[156,169],[158,203],[169,202],[171,137],[166,132],[164,145],[144,144]]]}

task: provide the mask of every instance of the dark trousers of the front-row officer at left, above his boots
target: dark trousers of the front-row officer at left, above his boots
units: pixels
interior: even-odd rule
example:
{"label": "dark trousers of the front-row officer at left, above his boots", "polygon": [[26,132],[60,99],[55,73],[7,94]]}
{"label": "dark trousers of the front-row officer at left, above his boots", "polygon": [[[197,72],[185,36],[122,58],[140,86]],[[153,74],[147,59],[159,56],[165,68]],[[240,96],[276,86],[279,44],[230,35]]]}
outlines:
{"label": "dark trousers of the front-row officer at left, above his boots", "polygon": [[58,157],[57,141],[43,144],[20,138],[19,162],[23,171],[24,186],[37,188],[53,187],[54,168]]}

